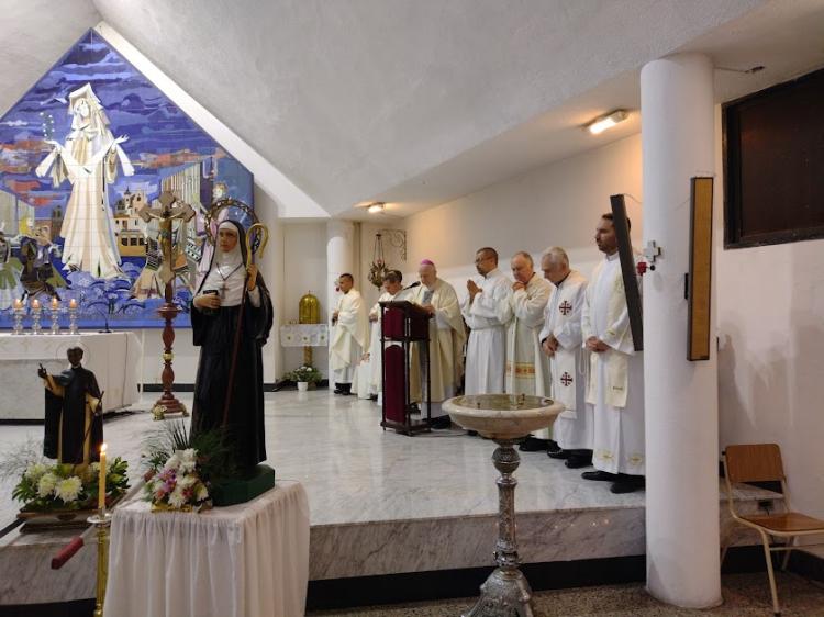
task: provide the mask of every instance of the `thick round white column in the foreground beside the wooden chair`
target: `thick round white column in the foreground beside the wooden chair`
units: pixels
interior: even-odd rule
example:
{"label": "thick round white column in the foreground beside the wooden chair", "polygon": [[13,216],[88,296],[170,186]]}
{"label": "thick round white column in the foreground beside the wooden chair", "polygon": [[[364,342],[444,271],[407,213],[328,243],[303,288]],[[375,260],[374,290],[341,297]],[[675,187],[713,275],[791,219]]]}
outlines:
{"label": "thick round white column in the foreground beside the wooden chair", "polygon": [[[647,588],[692,608],[721,603],[715,345],[710,360],[687,360],[683,299],[690,178],[714,170],[713,104],[706,56],[670,56],[641,72],[644,244],[662,250],[644,277]],[[714,304],[713,290],[713,322]]]}

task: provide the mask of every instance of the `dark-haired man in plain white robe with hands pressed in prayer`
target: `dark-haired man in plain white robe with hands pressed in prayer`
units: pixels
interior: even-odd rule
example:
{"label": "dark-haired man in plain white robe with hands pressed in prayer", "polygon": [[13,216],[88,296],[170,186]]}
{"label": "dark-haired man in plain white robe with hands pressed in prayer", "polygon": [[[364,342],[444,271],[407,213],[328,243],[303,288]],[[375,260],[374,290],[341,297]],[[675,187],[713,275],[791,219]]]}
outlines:
{"label": "dark-haired man in plain white robe with hands pressed in prayer", "polygon": [[469,326],[466,350],[465,394],[503,392],[506,324],[501,305],[509,301],[512,281],[498,268],[498,251],[490,247],[475,254],[478,276],[467,281],[460,312]]}

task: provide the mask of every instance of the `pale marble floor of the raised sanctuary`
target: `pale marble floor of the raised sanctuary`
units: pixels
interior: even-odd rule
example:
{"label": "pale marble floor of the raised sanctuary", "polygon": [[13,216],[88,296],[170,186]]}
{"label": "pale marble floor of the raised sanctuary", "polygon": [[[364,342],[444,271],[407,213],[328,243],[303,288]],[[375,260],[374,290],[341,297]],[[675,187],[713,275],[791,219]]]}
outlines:
{"label": "pale marble floor of the raised sanctuary", "polygon": [[[109,457],[129,460],[138,478],[141,445],[163,423],[146,412],[146,394],[132,415],[104,424]],[[191,405],[191,395],[180,399]],[[140,411],[143,411],[142,413]],[[488,515],[498,509],[494,444],[458,428],[416,437],[382,430],[380,408],[325,390],[266,395],[268,462],[278,478],[298,480],[310,497],[312,525]],[[43,438],[36,425],[0,426],[0,461],[26,440]],[[638,507],[644,492],[613,495],[608,483],[586,482],[580,470],[544,452],[523,452],[516,472],[519,512]],[[13,480],[0,479],[0,526],[14,517]]]}

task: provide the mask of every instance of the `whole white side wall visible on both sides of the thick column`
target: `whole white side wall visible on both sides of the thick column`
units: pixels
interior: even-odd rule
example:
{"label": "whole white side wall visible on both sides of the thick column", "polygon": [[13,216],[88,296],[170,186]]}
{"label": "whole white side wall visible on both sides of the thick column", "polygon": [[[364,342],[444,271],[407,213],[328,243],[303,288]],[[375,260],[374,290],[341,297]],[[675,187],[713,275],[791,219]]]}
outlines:
{"label": "whole white side wall visible on both sides of the thick column", "polygon": [[[720,120],[716,148],[719,451],[779,444],[795,507],[824,517],[824,240],[724,250]],[[592,231],[609,195],[642,200],[641,156],[636,135],[411,216],[404,278],[430,258],[463,295],[485,245],[503,257],[558,244],[589,274],[600,258]],[[637,245],[641,206],[631,199],[627,206]]]}

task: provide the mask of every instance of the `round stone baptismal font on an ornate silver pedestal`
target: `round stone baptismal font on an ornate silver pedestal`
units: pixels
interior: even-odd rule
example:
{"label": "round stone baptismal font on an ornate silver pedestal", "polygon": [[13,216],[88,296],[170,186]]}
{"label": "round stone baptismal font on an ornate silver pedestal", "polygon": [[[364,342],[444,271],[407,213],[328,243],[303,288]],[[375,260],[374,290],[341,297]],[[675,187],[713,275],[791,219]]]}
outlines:
{"label": "round stone baptismal font on an ornate silver pedestal", "polygon": [[498,444],[492,462],[501,472],[498,484],[498,568],[481,585],[481,596],[464,617],[532,617],[532,590],[519,570],[515,538],[515,485],[512,475],[521,463],[514,446],[530,433],[545,428],[564,405],[543,396],[523,394],[475,394],[444,402],[452,419],[467,430],[477,430]]}

